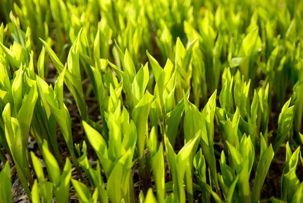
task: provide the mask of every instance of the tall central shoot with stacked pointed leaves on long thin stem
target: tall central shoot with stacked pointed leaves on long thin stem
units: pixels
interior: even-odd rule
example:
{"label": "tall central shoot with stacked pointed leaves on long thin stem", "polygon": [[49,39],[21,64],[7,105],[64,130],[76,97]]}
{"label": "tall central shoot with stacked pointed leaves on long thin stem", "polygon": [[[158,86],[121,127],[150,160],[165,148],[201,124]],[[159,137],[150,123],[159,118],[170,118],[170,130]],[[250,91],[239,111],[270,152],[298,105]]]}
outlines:
{"label": "tall central shoot with stacked pointed leaves on long thin stem", "polygon": [[[128,108],[131,109],[131,117],[136,126],[138,140],[137,140],[137,150],[138,159],[140,163],[140,175],[144,183],[146,179],[145,174],[145,155],[144,155],[144,144],[146,137],[146,125],[148,114],[151,108],[151,103],[153,102],[154,96],[148,91],[145,92],[148,83],[148,66],[141,65],[141,68],[136,72],[134,62],[126,49],[125,54],[121,51],[119,46],[116,44],[118,55],[122,63],[124,71],[118,69],[114,64],[110,64],[117,74],[120,74],[121,81],[124,81],[124,91],[127,97]],[[130,93],[131,92],[131,93]],[[146,184],[146,183],[144,183]]]}

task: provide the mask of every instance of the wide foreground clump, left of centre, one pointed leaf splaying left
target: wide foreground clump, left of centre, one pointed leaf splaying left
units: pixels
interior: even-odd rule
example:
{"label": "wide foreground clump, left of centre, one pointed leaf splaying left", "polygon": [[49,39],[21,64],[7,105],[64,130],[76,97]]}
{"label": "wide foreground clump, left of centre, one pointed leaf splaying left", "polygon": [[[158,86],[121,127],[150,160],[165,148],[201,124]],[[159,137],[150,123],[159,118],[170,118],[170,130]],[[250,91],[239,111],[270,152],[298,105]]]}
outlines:
{"label": "wide foreground clump, left of centre, one pointed leaf splaying left", "polygon": [[[126,202],[134,202],[130,169],[133,165],[132,157],[137,132],[133,121],[129,123],[128,113],[126,117],[124,116],[125,113],[125,111],[121,112],[120,108],[117,108],[115,111],[115,115],[118,115],[117,120],[114,113],[111,112],[108,115],[107,123],[110,130],[109,147],[104,138],[83,121],[87,138],[96,152],[108,179],[107,194],[111,202],[120,202],[121,198],[124,198]],[[90,176],[92,176],[95,172],[92,169],[90,171]],[[99,184],[99,187],[103,188],[103,183]],[[96,183],[94,185],[98,188]],[[104,188],[102,192],[105,192]]]}

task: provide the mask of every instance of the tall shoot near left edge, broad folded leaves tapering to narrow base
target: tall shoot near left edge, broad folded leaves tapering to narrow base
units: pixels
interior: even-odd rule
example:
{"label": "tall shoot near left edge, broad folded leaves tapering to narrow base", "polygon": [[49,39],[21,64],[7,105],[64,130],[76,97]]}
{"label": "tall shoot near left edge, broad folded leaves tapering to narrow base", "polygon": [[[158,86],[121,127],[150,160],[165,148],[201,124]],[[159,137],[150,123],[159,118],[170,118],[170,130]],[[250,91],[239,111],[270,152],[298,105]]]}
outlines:
{"label": "tall shoot near left edge, broad folded leaves tapering to narrow base", "polygon": [[[15,97],[13,112],[11,111],[11,104],[7,103],[2,116],[9,150],[12,153],[21,183],[27,195],[29,195],[30,190],[27,185],[27,179],[31,185],[33,184],[33,180],[28,163],[27,141],[38,92],[36,84],[33,83],[28,94],[22,98],[22,73],[21,68],[16,76],[17,79],[14,80],[16,83],[12,85],[13,96],[19,94],[18,97]],[[16,117],[11,117],[14,114]]]}

